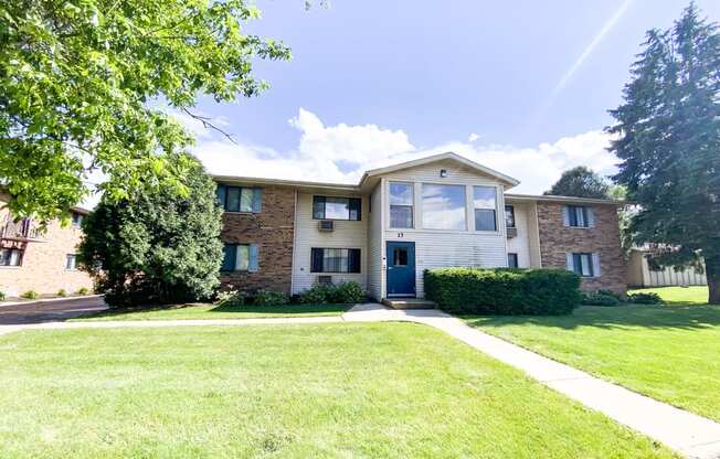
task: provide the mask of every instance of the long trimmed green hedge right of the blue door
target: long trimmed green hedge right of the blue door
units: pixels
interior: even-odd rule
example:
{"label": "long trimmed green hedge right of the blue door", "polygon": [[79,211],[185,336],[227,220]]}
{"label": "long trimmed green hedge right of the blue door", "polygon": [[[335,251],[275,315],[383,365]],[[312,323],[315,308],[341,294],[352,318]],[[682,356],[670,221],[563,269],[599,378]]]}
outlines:
{"label": "long trimmed green hedge right of the blue door", "polygon": [[580,276],[565,269],[437,268],[425,297],[458,314],[560,316],[580,303]]}

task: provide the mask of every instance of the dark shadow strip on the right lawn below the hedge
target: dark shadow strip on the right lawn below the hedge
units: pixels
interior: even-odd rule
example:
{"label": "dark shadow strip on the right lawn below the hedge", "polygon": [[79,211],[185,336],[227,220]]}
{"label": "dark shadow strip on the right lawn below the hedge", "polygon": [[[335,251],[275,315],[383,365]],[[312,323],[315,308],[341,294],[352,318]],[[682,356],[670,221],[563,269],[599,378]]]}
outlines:
{"label": "dark shadow strip on the right lawn below the hedge", "polygon": [[470,327],[486,328],[533,324],[565,330],[579,327],[699,330],[720,325],[720,306],[583,306],[569,316],[464,316],[463,319]]}

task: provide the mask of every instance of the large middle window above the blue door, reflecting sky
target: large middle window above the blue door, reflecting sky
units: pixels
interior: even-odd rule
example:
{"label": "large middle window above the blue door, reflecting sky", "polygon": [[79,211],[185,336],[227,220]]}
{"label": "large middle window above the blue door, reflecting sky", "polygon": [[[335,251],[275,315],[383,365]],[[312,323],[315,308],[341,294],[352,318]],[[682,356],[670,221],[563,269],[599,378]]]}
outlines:
{"label": "large middle window above the blue door, reflecting sky", "polygon": [[423,183],[423,227],[466,230],[465,186]]}

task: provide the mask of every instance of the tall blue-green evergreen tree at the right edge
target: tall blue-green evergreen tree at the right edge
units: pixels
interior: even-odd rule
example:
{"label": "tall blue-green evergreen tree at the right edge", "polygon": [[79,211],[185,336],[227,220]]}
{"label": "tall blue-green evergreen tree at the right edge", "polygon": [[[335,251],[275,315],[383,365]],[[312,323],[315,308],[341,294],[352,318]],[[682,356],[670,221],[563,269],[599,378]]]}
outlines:
{"label": "tall blue-green evergreen tree at the right edge", "polygon": [[657,267],[705,259],[720,303],[720,33],[693,3],[667,31],[650,30],[607,130],[615,180],[638,204],[629,231],[654,243]]}

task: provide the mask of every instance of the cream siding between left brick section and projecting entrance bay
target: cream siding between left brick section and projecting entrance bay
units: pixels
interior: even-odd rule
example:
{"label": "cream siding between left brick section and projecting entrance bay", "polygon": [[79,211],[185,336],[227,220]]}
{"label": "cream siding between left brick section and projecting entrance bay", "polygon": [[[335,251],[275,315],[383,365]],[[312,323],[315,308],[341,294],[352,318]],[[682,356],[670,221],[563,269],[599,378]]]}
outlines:
{"label": "cream siding between left brick section and projecting entrance bay", "polygon": [[[315,193],[318,194],[318,193]],[[332,196],[331,193],[322,193]],[[368,223],[361,221],[336,220],[331,232],[320,232],[318,220],[313,218],[313,195],[314,193],[297,193],[297,205],[295,210],[295,247],[293,254],[293,293],[299,293],[313,287],[317,282],[319,273],[311,271],[311,249],[322,248],[359,248],[360,249],[360,273],[332,273],[332,282],[356,281],[362,289],[367,289],[367,266],[368,266]],[[340,198],[348,198],[348,194],[338,194]],[[350,196],[353,198],[353,196]],[[358,196],[359,198],[359,196]],[[374,210],[375,207],[373,207]],[[368,215],[368,199],[362,196],[362,215]]]}

